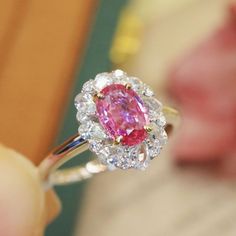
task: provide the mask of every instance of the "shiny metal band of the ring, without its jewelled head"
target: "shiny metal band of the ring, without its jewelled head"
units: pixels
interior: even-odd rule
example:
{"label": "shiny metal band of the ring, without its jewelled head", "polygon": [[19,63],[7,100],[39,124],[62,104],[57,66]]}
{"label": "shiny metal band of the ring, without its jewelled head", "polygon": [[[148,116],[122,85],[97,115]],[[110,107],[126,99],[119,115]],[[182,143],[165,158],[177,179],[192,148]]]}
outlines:
{"label": "shiny metal band of the ring, without its jewelled head", "polygon": [[[167,132],[179,122],[178,112],[170,107],[164,107],[167,119]],[[65,162],[88,149],[88,142],[80,135],[75,135],[54,149],[39,165],[39,171],[46,188],[54,185],[66,185],[92,177],[94,174],[107,170],[98,160],[90,161],[84,166],[58,170]]]}

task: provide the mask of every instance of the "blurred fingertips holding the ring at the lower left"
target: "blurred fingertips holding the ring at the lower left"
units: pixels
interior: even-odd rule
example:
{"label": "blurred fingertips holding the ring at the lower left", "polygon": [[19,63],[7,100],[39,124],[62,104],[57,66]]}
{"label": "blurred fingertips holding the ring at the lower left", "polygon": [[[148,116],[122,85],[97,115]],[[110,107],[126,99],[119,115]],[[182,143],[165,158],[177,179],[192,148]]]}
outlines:
{"label": "blurred fingertips holding the ring at the lower left", "polygon": [[45,192],[37,168],[0,145],[0,235],[42,236],[59,210],[57,196]]}

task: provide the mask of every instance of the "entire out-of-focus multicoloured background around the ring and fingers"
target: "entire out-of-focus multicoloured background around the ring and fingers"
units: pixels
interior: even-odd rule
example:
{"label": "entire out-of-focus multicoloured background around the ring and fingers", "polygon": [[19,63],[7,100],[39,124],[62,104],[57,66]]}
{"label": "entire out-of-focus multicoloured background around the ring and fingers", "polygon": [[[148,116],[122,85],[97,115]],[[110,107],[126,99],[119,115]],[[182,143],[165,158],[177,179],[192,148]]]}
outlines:
{"label": "entire out-of-focus multicoloured background around the ring and fingers", "polygon": [[235,1],[2,0],[0,142],[39,164],[76,132],[82,84],[115,68],[178,108],[181,126],[145,172],[58,187],[46,235],[236,235]]}

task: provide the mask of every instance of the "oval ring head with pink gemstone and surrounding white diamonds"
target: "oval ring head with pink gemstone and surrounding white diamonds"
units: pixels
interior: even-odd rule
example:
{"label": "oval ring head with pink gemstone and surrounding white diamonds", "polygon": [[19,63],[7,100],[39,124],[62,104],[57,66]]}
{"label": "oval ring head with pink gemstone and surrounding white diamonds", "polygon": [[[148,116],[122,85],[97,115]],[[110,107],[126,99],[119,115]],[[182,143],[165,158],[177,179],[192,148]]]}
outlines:
{"label": "oval ring head with pink gemstone and surrounding white diamonds", "polygon": [[121,70],[87,81],[75,106],[80,136],[109,170],[144,170],[167,143],[161,102],[148,85]]}

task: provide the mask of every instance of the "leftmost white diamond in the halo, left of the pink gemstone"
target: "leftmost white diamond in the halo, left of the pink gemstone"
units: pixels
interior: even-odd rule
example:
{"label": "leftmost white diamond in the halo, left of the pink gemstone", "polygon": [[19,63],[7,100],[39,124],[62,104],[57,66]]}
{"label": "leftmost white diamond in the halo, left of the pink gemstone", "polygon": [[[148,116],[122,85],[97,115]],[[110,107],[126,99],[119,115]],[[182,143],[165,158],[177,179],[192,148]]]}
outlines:
{"label": "leftmost white diamond in the halo, left of the pink gemstone", "polygon": [[76,115],[78,121],[84,122],[96,113],[96,106],[90,94],[80,93],[75,97]]}

